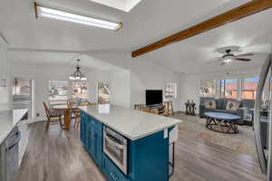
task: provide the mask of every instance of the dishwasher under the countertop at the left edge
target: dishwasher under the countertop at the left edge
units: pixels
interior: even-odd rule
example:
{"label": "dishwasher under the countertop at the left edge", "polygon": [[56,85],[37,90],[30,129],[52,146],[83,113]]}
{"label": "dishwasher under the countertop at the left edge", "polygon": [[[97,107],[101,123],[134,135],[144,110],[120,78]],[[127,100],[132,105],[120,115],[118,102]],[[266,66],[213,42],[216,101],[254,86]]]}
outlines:
{"label": "dishwasher under the countertop at the left edge", "polygon": [[19,141],[21,132],[15,127],[1,144],[0,181],[15,181],[19,169]]}

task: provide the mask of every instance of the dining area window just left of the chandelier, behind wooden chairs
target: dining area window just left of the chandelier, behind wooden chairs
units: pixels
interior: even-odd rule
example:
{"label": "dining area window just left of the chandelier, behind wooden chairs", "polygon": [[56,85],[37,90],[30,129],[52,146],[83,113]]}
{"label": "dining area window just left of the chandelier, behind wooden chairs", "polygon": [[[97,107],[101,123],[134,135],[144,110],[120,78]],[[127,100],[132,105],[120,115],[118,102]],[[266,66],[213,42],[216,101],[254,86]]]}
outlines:
{"label": "dining area window just left of the chandelier, behind wooden chairs", "polygon": [[68,100],[68,81],[49,81],[49,105],[66,104]]}

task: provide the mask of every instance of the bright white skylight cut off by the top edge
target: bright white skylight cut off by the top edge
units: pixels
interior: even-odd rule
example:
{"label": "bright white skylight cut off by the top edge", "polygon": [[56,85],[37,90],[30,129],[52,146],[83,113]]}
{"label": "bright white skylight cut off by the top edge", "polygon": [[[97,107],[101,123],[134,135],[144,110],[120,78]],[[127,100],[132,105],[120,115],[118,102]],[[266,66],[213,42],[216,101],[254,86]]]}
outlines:
{"label": "bright white skylight cut off by the top edge", "polygon": [[141,0],[90,0],[95,3],[107,5],[124,12],[130,12],[133,7],[138,5]]}

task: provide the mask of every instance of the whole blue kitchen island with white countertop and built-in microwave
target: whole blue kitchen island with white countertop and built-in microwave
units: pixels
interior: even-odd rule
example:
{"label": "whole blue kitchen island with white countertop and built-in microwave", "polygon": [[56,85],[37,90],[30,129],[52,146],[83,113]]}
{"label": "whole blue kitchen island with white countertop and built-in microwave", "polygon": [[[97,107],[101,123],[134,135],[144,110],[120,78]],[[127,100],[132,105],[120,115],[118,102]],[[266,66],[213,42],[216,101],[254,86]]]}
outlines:
{"label": "whole blue kitchen island with white countertop and built-in microwave", "polygon": [[167,181],[170,132],[180,122],[119,106],[86,106],[81,140],[110,181]]}

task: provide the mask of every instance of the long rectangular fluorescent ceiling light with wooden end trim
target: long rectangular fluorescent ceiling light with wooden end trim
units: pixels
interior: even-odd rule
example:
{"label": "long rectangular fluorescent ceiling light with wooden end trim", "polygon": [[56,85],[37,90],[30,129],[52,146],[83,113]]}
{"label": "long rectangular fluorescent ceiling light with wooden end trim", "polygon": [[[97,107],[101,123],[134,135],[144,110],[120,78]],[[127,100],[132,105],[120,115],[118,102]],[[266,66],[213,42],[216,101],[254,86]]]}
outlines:
{"label": "long rectangular fluorescent ceiling light with wooden end trim", "polygon": [[120,30],[122,27],[121,23],[113,23],[113,22],[108,22],[101,19],[97,19],[97,18],[88,17],[85,15],[72,14],[72,13],[61,11],[61,10],[38,5],[37,3],[34,3],[34,7],[35,7],[36,18],[38,17],[52,18],[52,19],[61,20],[65,22],[91,25],[91,26],[106,28],[106,29],[115,30],[115,31]]}

